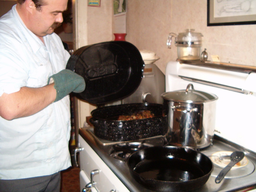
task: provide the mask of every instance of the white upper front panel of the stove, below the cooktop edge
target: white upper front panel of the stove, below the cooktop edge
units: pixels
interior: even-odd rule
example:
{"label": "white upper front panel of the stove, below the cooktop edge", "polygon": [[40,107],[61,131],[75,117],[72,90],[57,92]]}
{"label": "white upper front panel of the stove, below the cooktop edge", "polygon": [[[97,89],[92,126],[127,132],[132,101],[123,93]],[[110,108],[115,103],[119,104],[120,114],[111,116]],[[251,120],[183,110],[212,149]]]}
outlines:
{"label": "white upper front panel of the stove, below the cooktop edge", "polygon": [[80,169],[84,171],[88,178],[91,177],[90,174],[92,170],[99,170],[99,174],[95,174],[93,177],[98,192],[129,192],[124,184],[80,135],[78,136],[78,141],[79,146],[84,148],[79,155]]}

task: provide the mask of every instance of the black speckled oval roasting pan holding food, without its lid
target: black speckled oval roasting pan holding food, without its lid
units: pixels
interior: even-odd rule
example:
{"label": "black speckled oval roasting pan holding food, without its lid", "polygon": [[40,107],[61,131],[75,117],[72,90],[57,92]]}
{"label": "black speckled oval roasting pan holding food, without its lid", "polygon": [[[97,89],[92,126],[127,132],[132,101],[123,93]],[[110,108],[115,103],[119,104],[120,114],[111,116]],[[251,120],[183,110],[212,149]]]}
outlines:
{"label": "black speckled oval roasting pan holding food, without its lid", "polygon": [[[165,135],[168,126],[166,116],[162,115],[162,104],[132,103],[97,108],[91,112],[90,122],[94,134],[99,138],[112,141],[132,141],[153,136]],[[120,121],[120,115],[150,110],[154,117]]]}

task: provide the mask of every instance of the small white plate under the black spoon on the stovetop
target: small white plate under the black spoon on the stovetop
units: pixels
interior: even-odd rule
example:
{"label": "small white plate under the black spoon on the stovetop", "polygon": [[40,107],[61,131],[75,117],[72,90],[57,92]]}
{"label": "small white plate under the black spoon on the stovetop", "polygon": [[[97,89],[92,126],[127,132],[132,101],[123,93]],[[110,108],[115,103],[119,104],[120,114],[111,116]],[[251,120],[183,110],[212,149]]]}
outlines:
{"label": "small white plate under the black spoon on the stovetop", "polygon": [[[220,157],[221,156],[227,156],[227,155],[230,156],[231,154],[232,154],[232,151],[218,151],[218,152],[213,153],[210,156],[210,159],[217,166],[220,166],[221,168],[224,168],[224,167],[226,167],[230,163],[231,160],[230,160],[230,158],[223,159],[223,158],[220,158]],[[246,157],[244,157],[240,162],[235,164],[231,169],[236,169],[236,168],[244,167],[247,164],[248,164],[248,159]]]}

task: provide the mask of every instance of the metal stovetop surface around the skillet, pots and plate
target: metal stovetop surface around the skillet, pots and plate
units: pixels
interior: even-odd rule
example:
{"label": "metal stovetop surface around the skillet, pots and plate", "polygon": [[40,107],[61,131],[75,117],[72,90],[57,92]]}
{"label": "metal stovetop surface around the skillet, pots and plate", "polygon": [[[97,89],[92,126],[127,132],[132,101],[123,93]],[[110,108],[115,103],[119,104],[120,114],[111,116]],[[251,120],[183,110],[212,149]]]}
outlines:
{"label": "metal stovetop surface around the skillet, pots and plate", "polygon": [[[100,156],[106,165],[116,174],[116,176],[124,183],[131,192],[152,192],[140,185],[130,175],[126,162],[116,159],[110,154],[113,151],[114,144],[122,144],[124,142],[112,142],[102,140],[94,135],[93,127],[80,128],[79,134],[91,146],[91,148]],[[133,141],[135,142],[135,141]],[[136,141],[137,142],[137,141]],[[138,142],[142,142],[141,140]],[[145,139],[146,144],[163,145],[165,138],[156,136],[154,138]],[[194,192],[230,192],[230,191],[247,191],[256,188],[256,153],[225,140],[219,136],[214,136],[213,144],[207,148],[201,149],[200,152],[207,156],[211,156],[215,152],[220,151],[236,151],[241,150],[248,159],[248,164],[244,167],[232,169],[228,172],[220,184],[215,183],[215,178],[222,170],[214,164],[214,170],[206,184],[202,188]]]}

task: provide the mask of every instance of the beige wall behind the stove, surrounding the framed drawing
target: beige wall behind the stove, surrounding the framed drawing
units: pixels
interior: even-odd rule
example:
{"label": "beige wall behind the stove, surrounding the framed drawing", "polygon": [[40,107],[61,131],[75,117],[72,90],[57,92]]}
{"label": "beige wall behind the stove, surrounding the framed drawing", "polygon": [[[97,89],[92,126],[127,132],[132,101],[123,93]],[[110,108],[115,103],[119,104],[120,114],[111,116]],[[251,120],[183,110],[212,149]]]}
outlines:
{"label": "beige wall behind the stove, surrounding the framed drawing", "polygon": [[154,51],[163,72],[177,58],[176,46],[166,46],[168,34],[187,28],[204,35],[208,60],[218,55],[221,62],[256,66],[256,25],[207,26],[207,0],[127,0],[126,40]]}

